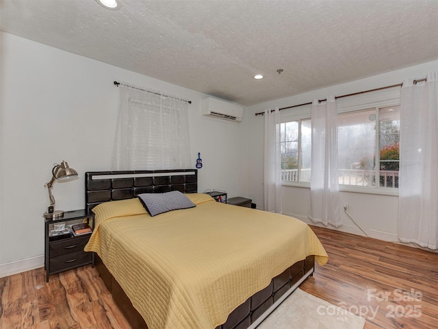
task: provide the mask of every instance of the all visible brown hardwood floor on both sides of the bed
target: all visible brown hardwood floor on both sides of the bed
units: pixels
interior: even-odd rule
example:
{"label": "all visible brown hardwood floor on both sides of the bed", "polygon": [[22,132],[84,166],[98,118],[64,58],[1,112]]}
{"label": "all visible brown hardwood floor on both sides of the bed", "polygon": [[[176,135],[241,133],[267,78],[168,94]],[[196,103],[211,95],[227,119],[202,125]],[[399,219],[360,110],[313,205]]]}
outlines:
{"label": "all visible brown hardwood floor on both sides of the bed", "polygon": [[[312,227],[329,254],[301,289],[361,313],[365,329],[437,328],[438,254]],[[96,269],[0,278],[0,328],[130,329]]]}

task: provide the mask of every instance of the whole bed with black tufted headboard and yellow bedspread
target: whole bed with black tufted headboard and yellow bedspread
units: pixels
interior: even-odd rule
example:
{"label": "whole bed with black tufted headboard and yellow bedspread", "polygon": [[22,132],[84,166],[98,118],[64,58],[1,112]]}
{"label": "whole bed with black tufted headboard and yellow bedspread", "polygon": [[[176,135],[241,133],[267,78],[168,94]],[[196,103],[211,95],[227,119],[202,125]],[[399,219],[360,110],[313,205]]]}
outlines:
{"label": "whole bed with black tufted headboard and yellow bedspread", "polygon": [[[138,198],[169,192],[193,206],[151,216]],[[86,251],[135,329],[255,328],[328,259],[302,221],[197,193],[196,169],[87,172],[86,209]]]}

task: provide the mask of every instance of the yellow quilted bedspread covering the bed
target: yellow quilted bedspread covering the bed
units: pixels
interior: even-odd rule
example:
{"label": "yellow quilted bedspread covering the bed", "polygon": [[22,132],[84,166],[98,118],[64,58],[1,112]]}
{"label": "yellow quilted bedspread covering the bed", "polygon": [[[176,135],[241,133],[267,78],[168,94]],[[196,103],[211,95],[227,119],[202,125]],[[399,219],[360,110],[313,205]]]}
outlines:
{"label": "yellow quilted bedspread covering the bed", "polygon": [[150,329],[214,329],[298,260],[313,254],[324,265],[328,259],[298,219],[220,204],[208,195],[188,197],[196,207],[155,217],[138,199],[120,212],[127,216],[97,211],[86,245]]}

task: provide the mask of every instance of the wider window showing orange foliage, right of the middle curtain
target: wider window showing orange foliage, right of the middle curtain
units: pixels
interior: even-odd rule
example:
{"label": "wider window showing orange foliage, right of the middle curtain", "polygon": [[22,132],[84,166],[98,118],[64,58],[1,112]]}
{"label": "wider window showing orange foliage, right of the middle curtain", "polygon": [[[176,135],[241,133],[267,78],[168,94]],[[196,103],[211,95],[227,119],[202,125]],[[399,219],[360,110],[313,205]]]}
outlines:
{"label": "wider window showing orange foliage, right of the middle curtain", "polygon": [[400,108],[338,116],[339,184],[398,187]]}

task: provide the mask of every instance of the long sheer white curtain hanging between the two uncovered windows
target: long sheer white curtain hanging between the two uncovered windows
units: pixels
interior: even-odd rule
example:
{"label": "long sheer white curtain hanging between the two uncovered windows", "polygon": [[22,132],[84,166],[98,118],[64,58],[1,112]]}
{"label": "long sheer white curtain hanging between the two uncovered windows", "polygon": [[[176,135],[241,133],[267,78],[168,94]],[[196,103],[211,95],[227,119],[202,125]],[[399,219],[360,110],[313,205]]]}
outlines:
{"label": "long sheer white curtain hanging between the two uncovered windows", "polygon": [[311,107],[312,151],[309,219],[315,223],[342,225],[337,174],[337,102],[315,99]]}

